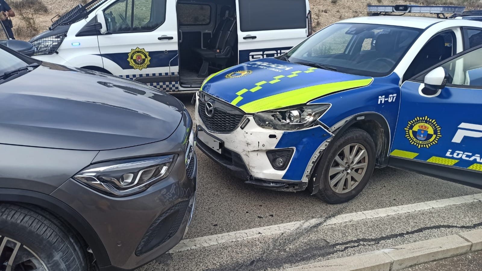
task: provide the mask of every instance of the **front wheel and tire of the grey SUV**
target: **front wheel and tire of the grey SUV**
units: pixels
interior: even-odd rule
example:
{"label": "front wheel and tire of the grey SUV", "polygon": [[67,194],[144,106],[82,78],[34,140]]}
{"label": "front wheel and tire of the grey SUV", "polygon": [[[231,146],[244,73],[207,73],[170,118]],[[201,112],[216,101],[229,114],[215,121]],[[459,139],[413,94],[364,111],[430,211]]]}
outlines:
{"label": "front wheel and tire of the grey SUV", "polygon": [[36,206],[0,203],[0,270],[13,259],[12,271],[88,271],[86,252],[78,236],[52,214]]}

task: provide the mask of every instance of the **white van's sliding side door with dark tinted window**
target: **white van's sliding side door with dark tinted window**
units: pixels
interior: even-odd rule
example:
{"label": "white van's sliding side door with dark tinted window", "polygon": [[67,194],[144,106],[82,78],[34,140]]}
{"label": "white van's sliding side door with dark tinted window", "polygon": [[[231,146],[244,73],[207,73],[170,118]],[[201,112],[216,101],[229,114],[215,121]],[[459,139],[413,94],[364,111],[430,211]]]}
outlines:
{"label": "white van's sliding side door with dark tinted window", "polygon": [[288,52],[308,36],[307,0],[237,0],[239,63]]}

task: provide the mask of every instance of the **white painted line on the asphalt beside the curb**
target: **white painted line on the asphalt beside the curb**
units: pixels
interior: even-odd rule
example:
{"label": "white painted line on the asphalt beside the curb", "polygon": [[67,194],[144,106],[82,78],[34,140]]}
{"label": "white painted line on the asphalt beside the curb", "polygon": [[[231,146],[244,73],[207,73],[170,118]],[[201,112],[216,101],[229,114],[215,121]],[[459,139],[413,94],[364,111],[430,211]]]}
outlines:
{"label": "white painted line on the asphalt beside the curb", "polygon": [[326,217],[321,217],[321,218],[314,218],[310,220],[295,221],[290,223],[278,224],[278,225],[249,229],[249,230],[240,230],[240,231],[233,231],[233,232],[227,232],[227,233],[210,235],[210,236],[203,236],[203,237],[198,237],[193,239],[182,240],[173,249],[171,249],[169,253],[176,253],[180,251],[207,247],[207,246],[216,245],[216,244],[223,244],[223,243],[235,242],[235,241],[240,241],[245,239],[258,238],[262,236],[269,236],[273,234],[279,234],[283,232],[304,229],[304,228],[316,226],[319,224],[333,225],[333,224],[346,223],[346,222],[357,221],[362,219],[387,217],[387,216],[393,216],[398,214],[411,213],[411,212],[416,212],[421,210],[435,209],[435,208],[441,208],[441,207],[446,207],[451,205],[472,203],[472,202],[478,202],[478,201],[482,202],[482,193],[430,201],[430,202],[414,203],[414,204],[381,208],[381,209],[370,210],[370,211],[362,211],[362,212],[351,213],[351,214],[344,214],[344,215],[339,215],[329,219],[326,219]]}

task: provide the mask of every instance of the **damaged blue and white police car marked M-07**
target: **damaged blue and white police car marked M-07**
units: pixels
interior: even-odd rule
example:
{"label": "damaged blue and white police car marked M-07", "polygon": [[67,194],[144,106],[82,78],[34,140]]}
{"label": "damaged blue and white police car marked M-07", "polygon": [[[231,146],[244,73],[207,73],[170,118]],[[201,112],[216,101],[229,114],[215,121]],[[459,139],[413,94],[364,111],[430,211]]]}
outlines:
{"label": "damaged blue and white police car marked M-07", "polygon": [[482,184],[482,24],[391,12],[323,28],[279,57],[218,72],[196,95],[197,141],[248,184],[359,194],[374,167]]}

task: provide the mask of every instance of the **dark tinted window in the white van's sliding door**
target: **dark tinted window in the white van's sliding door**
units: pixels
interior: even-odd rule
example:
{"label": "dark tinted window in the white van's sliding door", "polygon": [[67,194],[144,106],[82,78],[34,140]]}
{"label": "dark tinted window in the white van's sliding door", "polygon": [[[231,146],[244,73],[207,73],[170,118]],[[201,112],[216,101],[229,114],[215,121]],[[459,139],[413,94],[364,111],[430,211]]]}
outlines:
{"label": "dark tinted window in the white van's sliding door", "polygon": [[239,1],[242,32],[307,27],[306,0]]}

